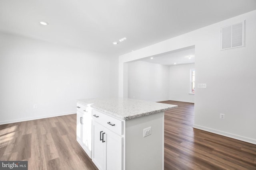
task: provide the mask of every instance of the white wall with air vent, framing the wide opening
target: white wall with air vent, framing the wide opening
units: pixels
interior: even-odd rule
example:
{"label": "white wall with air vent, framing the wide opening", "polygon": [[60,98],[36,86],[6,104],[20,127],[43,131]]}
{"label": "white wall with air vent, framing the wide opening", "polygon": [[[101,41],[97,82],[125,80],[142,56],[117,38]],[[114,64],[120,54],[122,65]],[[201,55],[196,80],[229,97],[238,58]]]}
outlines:
{"label": "white wall with air vent, framing the wide opening", "polygon": [[[220,51],[220,27],[246,20],[245,47]],[[194,127],[256,144],[256,10],[119,57],[119,96],[124,63],[195,45]],[[224,113],[225,119],[219,114]]]}

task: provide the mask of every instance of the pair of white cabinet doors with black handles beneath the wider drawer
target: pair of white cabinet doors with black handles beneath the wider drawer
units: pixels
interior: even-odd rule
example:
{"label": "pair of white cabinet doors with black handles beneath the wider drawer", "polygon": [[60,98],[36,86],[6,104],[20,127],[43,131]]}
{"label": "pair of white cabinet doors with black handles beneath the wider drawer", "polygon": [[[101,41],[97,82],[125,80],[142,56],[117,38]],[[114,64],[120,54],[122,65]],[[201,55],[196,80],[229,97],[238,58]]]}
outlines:
{"label": "pair of white cabinet doors with black handles beneath the wider drawer", "polygon": [[[109,125],[108,119],[105,121]],[[95,120],[92,121],[92,161],[99,170],[123,169],[123,137]]]}

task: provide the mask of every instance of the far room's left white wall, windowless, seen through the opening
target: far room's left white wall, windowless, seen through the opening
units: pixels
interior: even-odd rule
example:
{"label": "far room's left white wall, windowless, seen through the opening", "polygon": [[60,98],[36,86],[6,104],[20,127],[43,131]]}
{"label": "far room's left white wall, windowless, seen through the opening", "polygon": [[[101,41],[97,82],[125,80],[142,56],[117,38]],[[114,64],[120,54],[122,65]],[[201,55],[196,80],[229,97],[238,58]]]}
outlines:
{"label": "far room's left white wall, windowless, seen through the opening", "polygon": [[145,61],[128,63],[128,98],[168,100],[169,66]]}

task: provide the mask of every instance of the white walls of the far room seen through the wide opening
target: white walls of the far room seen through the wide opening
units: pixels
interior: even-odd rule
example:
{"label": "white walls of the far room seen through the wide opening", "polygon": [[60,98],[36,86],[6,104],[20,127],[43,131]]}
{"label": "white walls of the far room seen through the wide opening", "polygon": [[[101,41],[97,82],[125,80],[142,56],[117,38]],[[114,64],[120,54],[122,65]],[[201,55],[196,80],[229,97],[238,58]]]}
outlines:
{"label": "white walls of the far room seen through the wide opening", "polygon": [[189,94],[190,69],[194,64],[165,66],[135,61],[127,65],[128,98],[194,103],[194,94]]}

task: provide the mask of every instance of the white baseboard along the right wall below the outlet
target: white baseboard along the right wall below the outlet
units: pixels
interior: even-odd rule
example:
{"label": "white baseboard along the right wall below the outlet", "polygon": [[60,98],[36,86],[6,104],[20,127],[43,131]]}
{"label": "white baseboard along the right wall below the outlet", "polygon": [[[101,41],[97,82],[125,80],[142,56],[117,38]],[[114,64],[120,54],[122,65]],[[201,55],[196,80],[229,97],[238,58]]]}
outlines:
{"label": "white baseboard along the right wall below the outlet", "polygon": [[240,141],[244,141],[244,142],[248,142],[248,143],[252,143],[252,144],[256,145],[256,139],[251,139],[251,138],[243,137],[243,136],[236,135],[236,134],[233,134],[233,133],[219,131],[219,130],[216,130],[216,129],[212,129],[212,128],[208,128],[208,127],[204,127],[204,126],[200,126],[200,125],[194,125],[193,128],[200,129],[200,130],[203,130],[203,131],[208,131],[208,132],[211,132],[211,133],[216,133],[218,135],[222,135],[222,136],[225,136],[225,137],[230,137],[230,138],[233,138],[233,139],[237,139],[237,140],[240,140]]}

